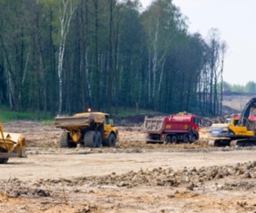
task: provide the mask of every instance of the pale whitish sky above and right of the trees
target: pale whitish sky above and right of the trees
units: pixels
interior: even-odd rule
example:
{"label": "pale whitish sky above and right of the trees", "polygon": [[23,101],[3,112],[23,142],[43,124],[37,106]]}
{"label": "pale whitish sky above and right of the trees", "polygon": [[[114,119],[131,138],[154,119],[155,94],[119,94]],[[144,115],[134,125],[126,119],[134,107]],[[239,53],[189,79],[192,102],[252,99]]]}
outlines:
{"label": "pale whitish sky above and right of the trees", "polygon": [[[140,0],[146,8],[152,0]],[[256,0],[172,0],[189,18],[189,32],[205,40],[211,28],[218,28],[228,44],[224,81],[234,85],[256,82]]]}

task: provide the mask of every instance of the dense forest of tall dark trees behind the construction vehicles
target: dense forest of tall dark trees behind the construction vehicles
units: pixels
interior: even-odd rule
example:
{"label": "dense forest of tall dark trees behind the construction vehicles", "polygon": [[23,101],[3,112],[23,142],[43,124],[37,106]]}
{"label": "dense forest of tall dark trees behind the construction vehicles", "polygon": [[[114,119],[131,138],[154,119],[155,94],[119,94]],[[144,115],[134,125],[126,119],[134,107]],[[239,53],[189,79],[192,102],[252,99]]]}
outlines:
{"label": "dense forest of tall dark trees behind the construction vehicles", "polygon": [[227,44],[189,33],[172,0],[0,0],[0,24],[0,103],[17,112],[222,112]]}

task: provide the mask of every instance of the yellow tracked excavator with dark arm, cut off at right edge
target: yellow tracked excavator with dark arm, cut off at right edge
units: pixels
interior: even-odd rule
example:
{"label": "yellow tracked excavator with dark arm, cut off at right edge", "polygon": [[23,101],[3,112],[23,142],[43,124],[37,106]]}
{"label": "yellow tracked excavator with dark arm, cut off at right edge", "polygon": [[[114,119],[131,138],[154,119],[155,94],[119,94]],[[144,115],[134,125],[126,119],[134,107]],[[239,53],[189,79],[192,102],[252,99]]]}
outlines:
{"label": "yellow tracked excavator with dark arm, cut off at right edge", "polygon": [[212,146],[255,146],[256,145],[256,97],[243,108],[240,115],[228,119],[225,124],[212,124],[210,142]]}

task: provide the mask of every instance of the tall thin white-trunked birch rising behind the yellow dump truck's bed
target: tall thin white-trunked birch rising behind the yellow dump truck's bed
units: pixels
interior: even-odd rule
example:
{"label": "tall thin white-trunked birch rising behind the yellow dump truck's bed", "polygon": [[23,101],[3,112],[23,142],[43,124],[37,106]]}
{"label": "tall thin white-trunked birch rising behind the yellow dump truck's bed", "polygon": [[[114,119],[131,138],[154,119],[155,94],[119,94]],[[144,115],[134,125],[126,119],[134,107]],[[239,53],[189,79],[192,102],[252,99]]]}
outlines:
{"label": "tall thin white-trunked birch rising behind the yellow dump truck's bed", "polygon": [[58,114],[62,113],[63,104],[63,58],[65,53],[65,43],[67,34],[69,32],[70,22],[75,12],[76,4],[73,0],[61,0],[59,3],[59,22],[61,24],[61,34],[59,42],[59,65],[58,65],[58,76],[59,76],[59,110]]}

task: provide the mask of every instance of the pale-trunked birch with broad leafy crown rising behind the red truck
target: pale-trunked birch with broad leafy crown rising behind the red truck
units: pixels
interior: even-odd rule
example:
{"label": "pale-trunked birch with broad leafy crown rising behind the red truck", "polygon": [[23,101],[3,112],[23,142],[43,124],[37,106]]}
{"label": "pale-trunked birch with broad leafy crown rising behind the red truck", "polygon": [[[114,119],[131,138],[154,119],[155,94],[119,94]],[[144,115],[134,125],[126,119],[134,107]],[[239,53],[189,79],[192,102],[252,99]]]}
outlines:
{"label": "pale-trunked birch with broad leafy crown rising behind the red truck", "polygon": [[148,97],[153,105],[162,87],[166,53],[179,30],[185,26],[182,19],[179,9],[168,0],[154,1],[150,9],[143,13],[143,24],[148,35]]}

